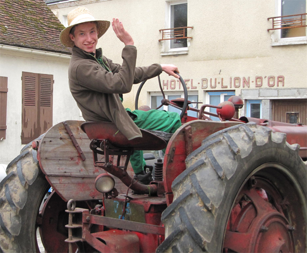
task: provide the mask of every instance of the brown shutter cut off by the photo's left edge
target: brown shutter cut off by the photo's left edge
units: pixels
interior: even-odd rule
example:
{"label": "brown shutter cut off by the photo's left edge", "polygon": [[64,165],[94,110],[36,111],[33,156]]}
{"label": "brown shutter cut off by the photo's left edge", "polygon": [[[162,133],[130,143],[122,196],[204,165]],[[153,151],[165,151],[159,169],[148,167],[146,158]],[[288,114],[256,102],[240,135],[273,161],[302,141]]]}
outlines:
{"label": "brown shutter cut off by the photo's left edge", "polygon": [[7,77],[0,77],[0,139],[6,134]]}

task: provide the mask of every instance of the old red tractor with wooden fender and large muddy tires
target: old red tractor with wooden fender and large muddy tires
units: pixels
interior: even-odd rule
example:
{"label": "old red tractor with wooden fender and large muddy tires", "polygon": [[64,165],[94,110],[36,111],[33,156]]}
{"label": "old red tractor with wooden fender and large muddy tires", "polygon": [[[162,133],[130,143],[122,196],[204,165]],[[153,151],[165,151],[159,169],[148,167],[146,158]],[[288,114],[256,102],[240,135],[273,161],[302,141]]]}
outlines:
{"label": "old red tractor with wooden fender and large muddy tires", "polygon": [[[26,145],[0,182],[0,252],[306,252],[307,127],[234,119],[238,97],[194,109],[181,83],[162,100],[182,110],[174,134],[66,121]],[[138,182],[133,151],[164,148]]]}

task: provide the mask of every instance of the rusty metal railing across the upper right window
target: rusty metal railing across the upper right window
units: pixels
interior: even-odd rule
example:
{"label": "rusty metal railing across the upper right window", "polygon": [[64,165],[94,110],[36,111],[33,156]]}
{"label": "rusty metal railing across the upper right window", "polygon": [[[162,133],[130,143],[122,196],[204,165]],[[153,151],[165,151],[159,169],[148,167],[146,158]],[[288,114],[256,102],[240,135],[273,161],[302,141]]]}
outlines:
{"label": "rusty metal railing across the upper right window", "polygon": [[267,29],[277,30],[277,29],[289,29],[289,28],[298,28],[306,27],[306,15],[307,13],[297,14],[297,15],[288,15],[288,16],[279,16],[279,17],[270,17],[267,20],[272,19],[272,28]]}

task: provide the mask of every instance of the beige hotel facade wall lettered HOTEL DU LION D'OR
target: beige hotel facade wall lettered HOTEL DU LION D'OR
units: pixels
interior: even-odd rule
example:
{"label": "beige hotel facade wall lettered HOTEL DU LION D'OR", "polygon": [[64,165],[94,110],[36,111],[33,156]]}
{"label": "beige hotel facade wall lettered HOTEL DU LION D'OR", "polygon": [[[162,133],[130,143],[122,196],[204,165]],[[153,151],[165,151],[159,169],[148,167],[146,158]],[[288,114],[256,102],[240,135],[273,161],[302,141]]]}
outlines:
{"label": "beige hotel facade wall lettered HOTEL DU LION D'OR", "polygon": [[[159,29],[165,28],[165,0],[105,0],[93,3],[91,0],[77,0],[49,7],[60,21],[77,5],[89,8],[97,19],[111,21],[113,17],[119,18],[138,48],[137,65],[155,62],[177,65],[182,77],[190,79],[189,91],[196,92],[201,102],[207,103],[205,92],[213,90],[235,90],[236,95],[249,99],[278,98],[279,94],[284,94],[283,98],[306,97],[306,40],[303,44],[273,46],[274,32],[267,31],[272,26],[272,21],[267,18],[276,16],[276,2],[188,0],[188,26],[194,27],[188,33],[193,39],[189,40],[188,54],[177,55],[161,55],[163,42],[158,42],[161,38]],[[115,37],[112,28],[100,39],[99,46],[102,46],[104,55],[121,63],[123,43]],[[261,78],[262,83],[258,83],[257,87],[256,81],[260,82]],[[165,74],[161,75],[161,79],[165,83],[172,80]],[[243,87],[244,79],[246,82],[249,80],[249,87],[246,82]],[[191,80],[195,89],[191,88]],[[135,85],[132,92],[124,96],[126,107],[134,108],[137,88],[138,85]],[[263,88],[265,92],[261,97],[258,91]],[[303,88],[303,91],[298,88]],[[280,89],[285,89],[285,92],[277,92]],[[295,92],[288,92],[293,89]],[[150,92],[158,90],[157,80],[148,81],[139,105],[150,104]],[[176,85],[168,92],[178,90],[179,85]]]}

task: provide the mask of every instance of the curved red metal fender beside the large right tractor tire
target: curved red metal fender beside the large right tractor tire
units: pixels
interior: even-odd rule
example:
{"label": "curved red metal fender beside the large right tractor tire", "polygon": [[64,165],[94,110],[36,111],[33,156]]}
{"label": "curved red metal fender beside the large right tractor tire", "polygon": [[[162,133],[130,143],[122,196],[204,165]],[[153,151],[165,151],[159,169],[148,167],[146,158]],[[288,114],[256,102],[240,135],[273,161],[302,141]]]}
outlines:
{"label": "curved red metal fender beside the large right tractor tire", "polygon": [[167,205],[170,205],[173,199],[172,182],[186,169],[187,155],[199,148],[202,141],[212,133],[239,124],[242,123],[195,120],[177,129],[168,142],[163,163],[163,181]]}

